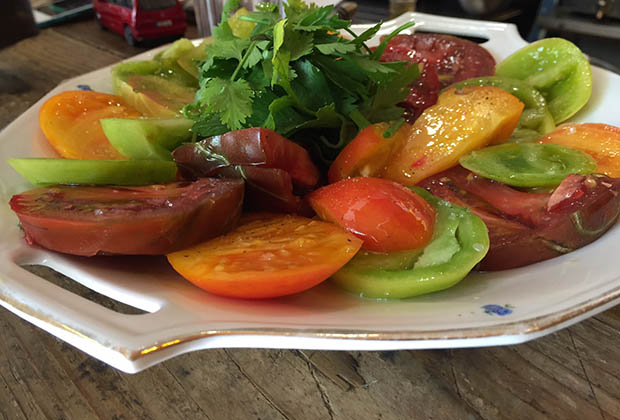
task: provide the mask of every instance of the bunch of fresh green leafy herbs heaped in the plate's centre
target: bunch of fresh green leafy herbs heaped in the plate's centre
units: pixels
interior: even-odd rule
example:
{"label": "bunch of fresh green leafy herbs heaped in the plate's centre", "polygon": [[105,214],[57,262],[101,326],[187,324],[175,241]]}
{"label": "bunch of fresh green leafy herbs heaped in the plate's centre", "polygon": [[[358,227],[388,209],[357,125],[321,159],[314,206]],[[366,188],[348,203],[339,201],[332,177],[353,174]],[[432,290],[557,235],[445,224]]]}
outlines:
{"label": "bunch of fresh green leafy herbs heaped in the plate's centre", "polygon": [[379,57],[387,41],[413,23],[397,28],[373,51],[366,42],[381,23],[356,35],[333,6],[289,0],[282,19],[276,4],[261,3],[240,17],[255,24],[249,38],[235,36],[228,22],[238,6],[239,0],[224,6],[215,41],[200,65],[195,102],[184,110],[195,120],[198,136],[265,127],[330,160],[361,128],[384,121],[393,122],[393,129],[402,124],[403,109],[397,105],[419,69],[382,63]]}

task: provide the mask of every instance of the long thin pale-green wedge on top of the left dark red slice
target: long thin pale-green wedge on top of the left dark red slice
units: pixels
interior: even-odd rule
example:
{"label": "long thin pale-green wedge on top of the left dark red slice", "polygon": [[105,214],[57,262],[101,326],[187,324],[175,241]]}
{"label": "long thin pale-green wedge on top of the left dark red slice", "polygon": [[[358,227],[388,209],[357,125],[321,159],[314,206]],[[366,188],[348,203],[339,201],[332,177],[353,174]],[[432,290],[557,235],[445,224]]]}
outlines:
{"label": "long thin pale-green wedge on top of the left dark red slice", "polygon": [[149,185],[176,179],[174,162],[162,160],[8,159],[32,185]]}

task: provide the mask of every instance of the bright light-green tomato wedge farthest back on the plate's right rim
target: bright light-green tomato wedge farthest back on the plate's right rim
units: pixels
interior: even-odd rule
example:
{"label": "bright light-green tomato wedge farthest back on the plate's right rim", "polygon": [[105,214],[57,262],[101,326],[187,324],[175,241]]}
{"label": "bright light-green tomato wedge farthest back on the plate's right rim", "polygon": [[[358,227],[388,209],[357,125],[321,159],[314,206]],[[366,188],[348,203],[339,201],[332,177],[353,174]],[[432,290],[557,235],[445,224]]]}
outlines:
{"label": "bright light-green tomato wedge farthest back on the plate's right rim", "polygon": [[539,90],[556,124],[579,111],[592,93],[592,69],[572,42],[547,38],[521,48],[502,61],[495,74],[523,80]]}

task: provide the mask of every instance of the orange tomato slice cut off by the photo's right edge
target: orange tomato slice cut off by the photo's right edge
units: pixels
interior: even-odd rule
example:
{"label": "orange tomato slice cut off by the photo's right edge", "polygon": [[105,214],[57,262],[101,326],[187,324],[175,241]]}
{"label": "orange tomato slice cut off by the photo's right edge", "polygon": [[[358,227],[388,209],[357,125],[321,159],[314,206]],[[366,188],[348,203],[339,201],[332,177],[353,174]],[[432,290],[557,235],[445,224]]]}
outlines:
{"label": "orange tomato slice cut off by the photo's right edge", "polygon": [[620,177],[620,128],[607,124],[562,124],[538,140],[581,150],[594,158],[596,172]]}

